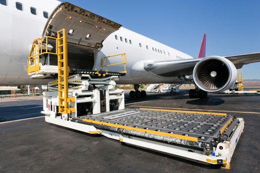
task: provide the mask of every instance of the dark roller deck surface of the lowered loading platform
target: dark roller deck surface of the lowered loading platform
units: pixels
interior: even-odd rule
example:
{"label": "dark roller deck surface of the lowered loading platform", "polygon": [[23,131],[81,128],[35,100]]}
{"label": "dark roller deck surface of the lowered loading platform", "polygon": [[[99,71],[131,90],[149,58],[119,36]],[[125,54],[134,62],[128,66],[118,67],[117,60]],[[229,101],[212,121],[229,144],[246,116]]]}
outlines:
{"label": "dark roller deck surface of the lowered loading platform", "polygon": [[181,113],[178,111],[165,112],[141,109],[124,109],[95,115],[81,116],[77,117],[75,120],[83,121],[83,119],[85,122],[86,120],[93,120],[92,124],[94,124],[94,126],[95,122],[103,122],[107,123],[107,126],[110,126],[109,124],[114,124],[136,128],[133,130],[144,129],[162,132],[161,134],[178,134],[187,136],[183,137],[183,139],[196,138],[198,139],[198,142],[209,143],[212,140],[217,140],[220,135],[220,130],[225,125],[230,123],[230,121],[233,121],[234,118],[233,116],[224,116],[222,114],[206,115],[197,113]]}

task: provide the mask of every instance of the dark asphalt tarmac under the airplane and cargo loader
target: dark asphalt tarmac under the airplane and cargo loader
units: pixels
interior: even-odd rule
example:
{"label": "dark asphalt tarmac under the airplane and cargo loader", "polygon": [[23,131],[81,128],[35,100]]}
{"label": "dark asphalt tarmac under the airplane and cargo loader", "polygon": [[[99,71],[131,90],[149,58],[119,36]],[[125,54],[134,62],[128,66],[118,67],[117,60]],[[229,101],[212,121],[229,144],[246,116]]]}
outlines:
{"label": "dark asphalt tarmac under the airplane and cargo loader", "polygon": [[46,123],[42,97],[0,99],[0,173],[259,173],[260,94],[148,93],[126,107],[229,113],[245,120],[231,169],[157,153]]}

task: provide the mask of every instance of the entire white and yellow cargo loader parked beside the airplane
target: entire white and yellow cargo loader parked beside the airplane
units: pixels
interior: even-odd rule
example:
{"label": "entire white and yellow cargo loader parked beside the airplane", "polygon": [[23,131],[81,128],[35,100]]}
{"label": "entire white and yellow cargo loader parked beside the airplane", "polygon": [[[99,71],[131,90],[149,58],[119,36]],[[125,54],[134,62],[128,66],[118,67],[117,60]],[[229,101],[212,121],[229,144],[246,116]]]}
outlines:
{"label": "entire white and yellow cargo loader parked beside the airplane", "polygon": [[[70,69],[67,33],[33,42],[28,57],[31,78],[53,79],[44,92],[45,121],[87,133],[102,134],[127,144],[155,150],[208,164],[230,167],[244,120],[231,115],[159,109],[125,109],[124,91],[115,81],[126,71],[103,70],[111,65],[108,57],[101,61],[102,70]],[[50,65],[50,55],[57,65]],[[109,56],[112,57],[112,56]],[[105,62],[105,65],[104,65]]]}

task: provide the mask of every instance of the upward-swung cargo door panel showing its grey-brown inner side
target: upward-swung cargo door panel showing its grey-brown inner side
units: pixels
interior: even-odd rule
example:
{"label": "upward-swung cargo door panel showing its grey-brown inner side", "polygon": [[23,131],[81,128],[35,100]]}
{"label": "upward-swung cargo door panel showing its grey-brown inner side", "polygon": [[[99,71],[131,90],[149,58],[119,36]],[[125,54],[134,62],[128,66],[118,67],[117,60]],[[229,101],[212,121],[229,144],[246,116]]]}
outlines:
{"label": "upward-swung cargo door panel showing its grey-brown inner side", "polygon": [[43,35],[55,35],[64,28],[68,43],[100,49],[103,41],[121,26],[71,3],[62,2],[52,12]]}

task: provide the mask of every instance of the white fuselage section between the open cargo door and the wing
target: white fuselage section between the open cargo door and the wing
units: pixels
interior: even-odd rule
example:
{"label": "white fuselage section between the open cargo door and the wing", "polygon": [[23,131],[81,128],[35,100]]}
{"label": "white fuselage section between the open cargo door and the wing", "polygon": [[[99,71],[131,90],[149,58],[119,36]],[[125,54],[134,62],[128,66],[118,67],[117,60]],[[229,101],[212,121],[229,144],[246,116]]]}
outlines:
{"label": "white fuselage section between the open cargo door and the wing", "polygon": [[[117,40],[115,39],[117,36]],[[123,41],[120,40],[120,37],[123,38]],[[127,39],[127,43],[125,42]],[[132,44],[130,44],[130,41]],[[140,47],[140,43],[142,47]],[[166,61],[174,59],[191,59],[192,56],[178,51],[172,47],[169,47],[165,44],[156,42],[150,38],[137,34],[131,30],[121,27],[118,31],[112,33],[108,36],[104,43],[103,48],[98,53],[98,58],[95,61],[94,69],[100,68],[100,59],[104,56],[110,56],[119,53],[126,53],[127,56],[127,65],[126,71],[127,74],[125,77],[122,77],[117,83],[118,84],[153,84],[153,83],[175,83],[181,82],[178,78],[166,78],[159,77],[151,72],[147,72],[143,68],[144,61]],[[148,46],[148,49],[147,49]],[[154,48],[154,49],[153,49]],[[161,52],[160,52],[161,51]],[[164,54],[165,52],[165,54]],[[178,57],[178,58],[177,58]],[[118,58],[109,58],[110,63],[118,63],[120,57]],[[138,71],[139,74],[131,73],[133,66],[138,64],[140,67]],[[136,66],[136,65],[135,65]],[[123,71],[123,65],[121,66],[112,66],[108,68],[109,71]]]}

